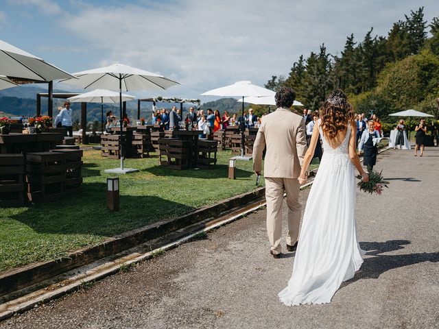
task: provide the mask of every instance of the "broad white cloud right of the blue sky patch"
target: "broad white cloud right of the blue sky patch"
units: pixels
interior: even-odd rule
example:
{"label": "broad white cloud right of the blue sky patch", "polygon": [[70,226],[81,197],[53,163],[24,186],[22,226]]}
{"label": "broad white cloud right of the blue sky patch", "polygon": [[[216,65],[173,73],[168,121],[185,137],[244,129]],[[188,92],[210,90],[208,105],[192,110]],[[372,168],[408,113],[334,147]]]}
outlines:
{"label": "broad white cloud right of the blue sky patch", "polygon": [[[271,75],[287,75],[300,54],[306,58],[322,42],[331,53],[340,53],[351,33],[361,40],[373,26],[375,34],[386,34],[417,5],[408,0],[339,5],[324,0],[174,0],[82,8],[60,27],[83,40],[83,49],[99,53],[83,69],[130,64],[182,83],[163,95],[197,97],[237,80],[262,86]],[[430,1],[426,16],[438,10],[439,4]]]}

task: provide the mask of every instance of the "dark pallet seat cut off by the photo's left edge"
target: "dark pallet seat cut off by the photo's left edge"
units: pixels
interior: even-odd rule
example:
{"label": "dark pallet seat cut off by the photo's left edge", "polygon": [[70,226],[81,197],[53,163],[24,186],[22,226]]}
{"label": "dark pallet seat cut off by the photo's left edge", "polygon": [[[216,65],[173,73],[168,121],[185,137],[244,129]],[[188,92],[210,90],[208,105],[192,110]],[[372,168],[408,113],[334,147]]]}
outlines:
{"label": "dark pallet seat cut off by the photo's left edge", "polygon": [[24,205],[23,154],[0,154],[0,207]]}

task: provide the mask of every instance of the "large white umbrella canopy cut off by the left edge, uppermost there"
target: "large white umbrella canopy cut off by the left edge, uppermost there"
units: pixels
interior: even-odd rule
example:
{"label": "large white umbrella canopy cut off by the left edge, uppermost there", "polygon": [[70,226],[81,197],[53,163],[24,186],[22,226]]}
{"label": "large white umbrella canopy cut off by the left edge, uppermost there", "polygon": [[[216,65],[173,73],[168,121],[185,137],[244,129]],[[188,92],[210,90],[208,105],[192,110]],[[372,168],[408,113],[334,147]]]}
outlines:
{"label": "large white umbrella canopy cut off by the left edge, uppermost there", "polygon": [[48,82],[75,78],[58,67],[0,40],[0,74],[8,77]]}

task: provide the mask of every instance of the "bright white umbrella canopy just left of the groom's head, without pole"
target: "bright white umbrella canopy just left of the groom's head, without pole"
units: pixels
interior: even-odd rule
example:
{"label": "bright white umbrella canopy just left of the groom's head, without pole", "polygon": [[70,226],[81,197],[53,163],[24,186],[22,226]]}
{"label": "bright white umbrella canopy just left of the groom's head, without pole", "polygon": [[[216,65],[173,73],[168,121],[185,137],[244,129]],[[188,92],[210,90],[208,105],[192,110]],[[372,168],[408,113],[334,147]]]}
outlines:
{"label": "bright white umbrella canopy just left of the groom's head, without pole", "polygon": [[274,96],[273,90],[263,88],[252,84],[250,81],[238,81],[235,84],[230,84],[221,88],[208,90],[202,93],[202,96],[224,96],[224,97],[263,97]]}

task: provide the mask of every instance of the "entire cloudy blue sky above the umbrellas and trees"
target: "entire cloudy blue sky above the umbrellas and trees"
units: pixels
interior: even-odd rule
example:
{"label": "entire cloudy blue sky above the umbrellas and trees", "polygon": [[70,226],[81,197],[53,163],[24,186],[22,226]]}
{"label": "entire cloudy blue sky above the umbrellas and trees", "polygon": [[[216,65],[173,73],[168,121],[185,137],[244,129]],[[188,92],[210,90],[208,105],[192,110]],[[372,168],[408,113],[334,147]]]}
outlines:
{"label": "entire cloudy blue sky above the umbrellas and trees", "polygon": [[[370,27],[386,36],[404,14],[439,1],[413,0],[0,0],[0,38],[69,73],[114,63],[180,82],[137,97],[200,97],[250,80],[287,76],[301,54],[324,43],[340,54],[346,37]],[[1,73],[0,73],[1,74]],[[60,84],[54,88],[78,91]],[[298,97],[300,100],[300,95]]]}

